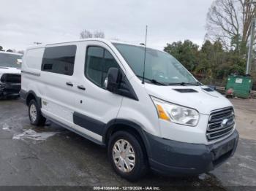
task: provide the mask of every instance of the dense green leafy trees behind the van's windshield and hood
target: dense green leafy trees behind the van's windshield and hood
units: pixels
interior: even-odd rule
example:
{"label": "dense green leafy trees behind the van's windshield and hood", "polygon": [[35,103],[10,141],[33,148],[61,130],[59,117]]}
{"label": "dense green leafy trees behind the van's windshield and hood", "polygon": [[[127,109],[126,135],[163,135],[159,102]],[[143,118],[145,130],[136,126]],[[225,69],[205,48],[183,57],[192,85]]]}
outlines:
{"label": "dense green leafy trees behind the van's windshield and hood", "polygon": [[235,50],[225,50],[222,42],[206,40],[202,47],[185,40],[167,44],[165,52],[173,55],[200,81],[212,85],[225,85],[230,74],[243,75],[246,58]]}

